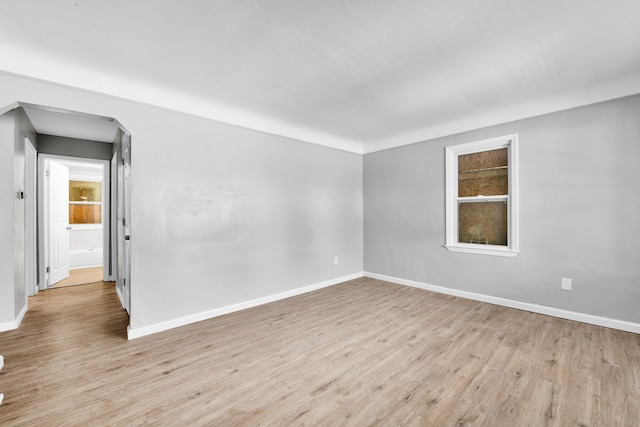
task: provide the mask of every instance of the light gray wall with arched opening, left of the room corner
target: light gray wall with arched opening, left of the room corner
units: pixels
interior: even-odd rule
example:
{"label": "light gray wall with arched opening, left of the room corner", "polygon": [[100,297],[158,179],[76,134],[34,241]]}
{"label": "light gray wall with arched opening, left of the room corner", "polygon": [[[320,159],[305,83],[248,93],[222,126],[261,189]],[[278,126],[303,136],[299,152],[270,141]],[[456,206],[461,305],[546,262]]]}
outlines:
{"label": "light gray wall with arched opening, left of the room corner", "polygon": [[[131,132],[134,329],[362,271],[359,155],[0,74],[0,106],[16,101]],[[13,228],[4,202],[0,218]],[[3,239],[0,259],[12,251]]]}

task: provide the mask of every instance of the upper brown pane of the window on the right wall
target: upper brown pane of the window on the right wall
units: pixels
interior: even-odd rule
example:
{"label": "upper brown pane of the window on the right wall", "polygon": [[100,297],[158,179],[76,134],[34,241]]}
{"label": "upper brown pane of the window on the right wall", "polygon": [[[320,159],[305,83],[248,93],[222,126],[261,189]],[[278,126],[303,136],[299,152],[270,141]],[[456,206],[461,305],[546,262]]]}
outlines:
{"label": "upper brown pane of the window on the right wall", "polygon": [[458,197],[509,194],[507,148],[458,156]]}

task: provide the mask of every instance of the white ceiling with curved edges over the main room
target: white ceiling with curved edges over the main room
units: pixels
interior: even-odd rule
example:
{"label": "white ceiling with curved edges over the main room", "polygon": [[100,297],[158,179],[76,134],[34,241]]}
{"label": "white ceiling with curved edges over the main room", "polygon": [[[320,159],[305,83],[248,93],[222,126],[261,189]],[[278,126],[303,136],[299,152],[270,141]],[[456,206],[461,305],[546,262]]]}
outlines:
{"label": "white ceiling with curved edges over the main room", "polygon": [[0,70],[360,153],[640,93],[638,0],[1,1]]}

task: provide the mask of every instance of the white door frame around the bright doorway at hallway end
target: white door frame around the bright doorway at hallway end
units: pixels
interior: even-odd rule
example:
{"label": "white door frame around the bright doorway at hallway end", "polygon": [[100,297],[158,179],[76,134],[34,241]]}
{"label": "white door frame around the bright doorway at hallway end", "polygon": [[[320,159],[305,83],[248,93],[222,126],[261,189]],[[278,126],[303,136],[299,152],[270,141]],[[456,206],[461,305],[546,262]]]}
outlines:
{"label": "white door frame around the bright doorway at hallway end", "polygon": [[47,227],[48,212],[48,197],[49,191],[46,185],[46,161],[60,161],[60,162],[82,162],[82,163],[94,163],[102,165],[102,265],[104,272],[104,281],[113,281],[114,278],[109,271],[108,266],[111,263],[111,250],[110,250],[110,237],[111,228],[113,222],[111,219],[111,165],[109,160],[91,159],[85,157],[72,157],[72,156],[60,156],[56,154],[38,153],[38,271],[39,271],[39,283],[38,289],[45,290],[49,287],[49,273],[47,273],[47,263],[49,259],[49,247],[48,238],[49,230]]}

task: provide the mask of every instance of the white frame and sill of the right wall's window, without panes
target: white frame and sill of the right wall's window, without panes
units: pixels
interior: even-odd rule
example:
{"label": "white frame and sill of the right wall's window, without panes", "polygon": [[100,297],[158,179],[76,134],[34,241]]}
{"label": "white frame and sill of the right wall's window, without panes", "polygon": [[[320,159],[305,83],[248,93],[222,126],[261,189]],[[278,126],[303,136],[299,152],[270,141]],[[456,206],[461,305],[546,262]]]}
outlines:
{"label": "white frame and sill of the right wall's window, without panes", "polygon": [[[509,194],[505,196],[458,197],[458,156],[482,151],[508,149]],[[446,156],[446,243],[452,252],[514,257],[518,241],[518,134],[505,135],[445,148]],[[458,242],[458,201],[507,203],[507,246]]]}

